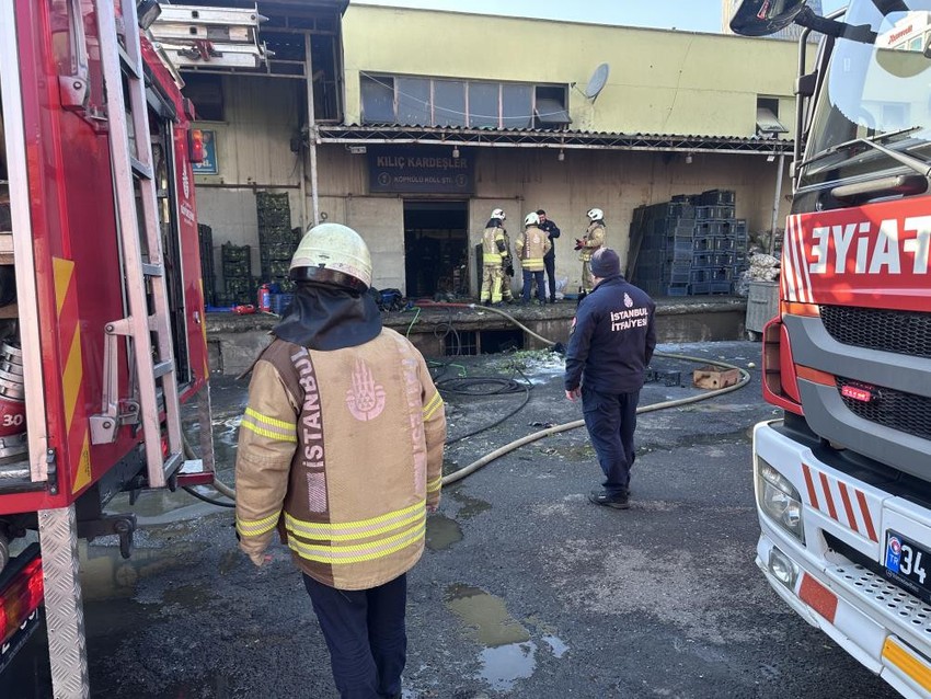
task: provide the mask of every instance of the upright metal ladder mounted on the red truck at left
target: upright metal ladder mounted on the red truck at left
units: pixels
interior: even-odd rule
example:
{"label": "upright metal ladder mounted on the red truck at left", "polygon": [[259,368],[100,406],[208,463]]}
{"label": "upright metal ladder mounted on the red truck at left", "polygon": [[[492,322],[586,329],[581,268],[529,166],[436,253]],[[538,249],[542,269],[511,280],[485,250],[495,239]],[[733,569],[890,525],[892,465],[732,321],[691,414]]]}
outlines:
{"label": "upright metal ladder mounted on the red truck at left", "polygon": [[[161,488],[182,465],[184,456],[136,1],[117,0],[114,3],[113,0],[97,0],[94,5],[129,316],[106,326],[107,342],[114,350],[108,353],[111,366],[105,371],[112,391],[111,405],[106,410],[105,404],[104,414],[91,419],[92,433],[97,443],[105,440],[102,435],[110,436],[110,440],[115,438],[122,417],[117,414],[114,386],[115,350],[118,337],[129,337],[138,392],[138,403],[134,406],[136,414],[131,417],[142,423],[149,486]],[[119,9],[118,15],[114,5]],[[163,408],[160,402],[163,402]],[[162,450],[163,427],[168,436],[166,455]]]}

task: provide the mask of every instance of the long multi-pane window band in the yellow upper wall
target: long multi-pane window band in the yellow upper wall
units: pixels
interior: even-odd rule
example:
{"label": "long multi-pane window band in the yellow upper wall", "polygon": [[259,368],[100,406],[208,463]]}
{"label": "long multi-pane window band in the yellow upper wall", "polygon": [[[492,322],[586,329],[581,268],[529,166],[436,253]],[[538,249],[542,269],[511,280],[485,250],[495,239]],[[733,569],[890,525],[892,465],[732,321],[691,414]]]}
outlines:
{"label": "long multi-pane window band in the yellow upper wall", "polygon": [[363,124],[566,128],[565,85],[364,73]]}

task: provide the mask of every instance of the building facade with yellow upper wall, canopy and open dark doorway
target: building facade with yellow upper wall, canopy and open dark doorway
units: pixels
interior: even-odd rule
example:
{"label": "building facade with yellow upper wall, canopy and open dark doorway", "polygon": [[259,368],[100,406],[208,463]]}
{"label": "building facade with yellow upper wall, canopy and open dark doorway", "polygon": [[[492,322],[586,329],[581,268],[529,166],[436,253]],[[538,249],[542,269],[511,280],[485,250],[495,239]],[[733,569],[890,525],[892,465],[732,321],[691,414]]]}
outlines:
{"label": "building facade with yellow upper wall, canopy and open dark doorway", "polygon": [[514,237],[543,208],[563,230],[556,276],[574,291],[591,207],[622,260],[633,210],[677,194],[733,190],[750,230],[788,213],[788,42],[338,3],[325,21],[296,20],[302,3],[276,4],[263,35],[287,66],[302,53],[300,72],[184,73],[219,105],[199,123],[216,170],[197,176],[217,248],[257,248],[256,194],[284,194],[295,227],[356,228],[377,287],[478,296],[492,209]]}

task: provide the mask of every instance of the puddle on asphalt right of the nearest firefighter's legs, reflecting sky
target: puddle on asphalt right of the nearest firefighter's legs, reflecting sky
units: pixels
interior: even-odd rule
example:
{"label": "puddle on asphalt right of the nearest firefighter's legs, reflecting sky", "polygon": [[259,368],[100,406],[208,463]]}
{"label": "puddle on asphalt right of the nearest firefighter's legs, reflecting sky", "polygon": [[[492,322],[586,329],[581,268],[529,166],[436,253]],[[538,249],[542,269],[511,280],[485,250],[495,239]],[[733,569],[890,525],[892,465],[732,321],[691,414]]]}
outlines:
{"label": "puddle on asphalt right of the nearest firefighter's legs, reflecting sky", "polygon": [[522,623],[507,612],[504,600],[470,585],[450,585],[446,605],[484,650],[479,677],[493,689],[509,690],[537,668],[537,644]]}

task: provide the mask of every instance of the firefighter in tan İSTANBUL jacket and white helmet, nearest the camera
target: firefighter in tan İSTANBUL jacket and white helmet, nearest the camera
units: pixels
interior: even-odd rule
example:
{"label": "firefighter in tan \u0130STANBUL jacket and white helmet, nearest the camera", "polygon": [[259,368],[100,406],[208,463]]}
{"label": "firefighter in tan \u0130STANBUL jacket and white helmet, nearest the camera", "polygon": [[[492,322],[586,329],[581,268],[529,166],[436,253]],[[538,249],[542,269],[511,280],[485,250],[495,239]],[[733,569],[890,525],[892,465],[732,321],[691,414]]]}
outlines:
{"label": "firefighter in tan \u0130STANBUL jacket and white helmet, nearest the camera", "polygon": [[442,400],[419,352],[382,328],[358,233],[311,228],[290,278],[239,433],[240,547],[258,566],[276,530],[290,548],[344,699],[400,697],[406,572],[440,497]]}

